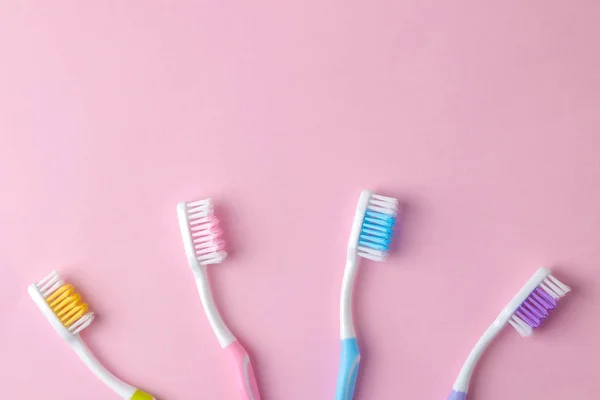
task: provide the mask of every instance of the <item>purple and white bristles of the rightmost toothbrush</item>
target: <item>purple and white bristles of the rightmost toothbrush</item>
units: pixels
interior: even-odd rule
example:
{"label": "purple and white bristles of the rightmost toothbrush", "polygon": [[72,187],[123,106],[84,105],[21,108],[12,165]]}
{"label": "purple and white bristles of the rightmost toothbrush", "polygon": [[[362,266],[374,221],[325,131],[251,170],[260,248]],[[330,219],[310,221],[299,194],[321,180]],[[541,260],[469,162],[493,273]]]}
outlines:
{"label": "purple and white bristles of the rightmost toothbrush", "polygon": [[571,288],[567,285],[552,275],[548,275],[521,303],[509,323],[521,336],[533,335],[534,329],[542,325],[550,312],[558,305],[558,300],[570,290]]}

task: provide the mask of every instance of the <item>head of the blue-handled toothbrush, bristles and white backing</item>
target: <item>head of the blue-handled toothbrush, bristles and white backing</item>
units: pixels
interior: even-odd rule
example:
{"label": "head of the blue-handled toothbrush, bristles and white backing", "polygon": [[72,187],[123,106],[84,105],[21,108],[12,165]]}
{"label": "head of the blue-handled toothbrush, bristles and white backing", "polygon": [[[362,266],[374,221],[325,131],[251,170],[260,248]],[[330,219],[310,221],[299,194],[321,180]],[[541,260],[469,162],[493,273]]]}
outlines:
{"label": "head of the blue-handled toothbrush, bristles and white backing", "polygon": [[397,199],[363,190],[354,215],[348,250],[373,261],[385,260],[397,215]]}

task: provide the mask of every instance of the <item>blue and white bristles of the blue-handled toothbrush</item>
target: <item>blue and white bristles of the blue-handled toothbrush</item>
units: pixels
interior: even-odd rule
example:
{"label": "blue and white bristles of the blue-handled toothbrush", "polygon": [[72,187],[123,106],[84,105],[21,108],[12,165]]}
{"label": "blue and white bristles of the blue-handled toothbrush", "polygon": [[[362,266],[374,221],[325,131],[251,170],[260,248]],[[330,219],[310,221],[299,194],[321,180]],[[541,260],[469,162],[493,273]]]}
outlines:
{"label": "blue and white bristles of the blue-handled toothbrush", "polygon": [[358,255],[374,261],[387,257],[398,215],[398,200],[371,195],[358,238]]}

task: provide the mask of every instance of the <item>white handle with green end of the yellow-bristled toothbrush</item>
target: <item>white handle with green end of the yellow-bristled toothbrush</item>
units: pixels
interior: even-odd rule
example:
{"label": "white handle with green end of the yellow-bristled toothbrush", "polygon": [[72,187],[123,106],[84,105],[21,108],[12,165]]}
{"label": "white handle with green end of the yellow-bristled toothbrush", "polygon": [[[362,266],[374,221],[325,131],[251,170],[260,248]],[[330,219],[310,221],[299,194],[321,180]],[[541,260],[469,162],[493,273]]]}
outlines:
{"label": "white handle with green end of the yellow-bristled toothbrush", "polygon": [[130,400],[153,400],[154,397],[151,395],[138,390],[137,388],[123,382],[110,371],[108,371],[100,361],[94,357],[94,354],[85,345],[79,335],[74,336],[69,340],[69,344],[75,350],[75,353],[81,358],[81,360],[88,366],[90,370],[100,379],[106,386],[111,388],[115,393],[124,399]]}

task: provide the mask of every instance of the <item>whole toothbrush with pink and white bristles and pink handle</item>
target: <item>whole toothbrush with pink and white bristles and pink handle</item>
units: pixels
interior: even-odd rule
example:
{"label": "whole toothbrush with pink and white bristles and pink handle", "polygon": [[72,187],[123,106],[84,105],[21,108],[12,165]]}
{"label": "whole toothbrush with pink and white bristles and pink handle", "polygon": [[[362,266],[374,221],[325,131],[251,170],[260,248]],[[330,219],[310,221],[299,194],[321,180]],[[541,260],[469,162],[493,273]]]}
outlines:
{"label": "whole toothbrush with pink and white bristles and pink handle", "polygon": [[219,220],[214,215],[212,200],[181,202],[177,205],[177,217],[183,246],[190,268],[196,278],[204,312],[221,348],[227,350],[237,370],[241,398],[260,400],[250,357],[221,318],[206,275],[207,265],[219,264],[227,257]]}

